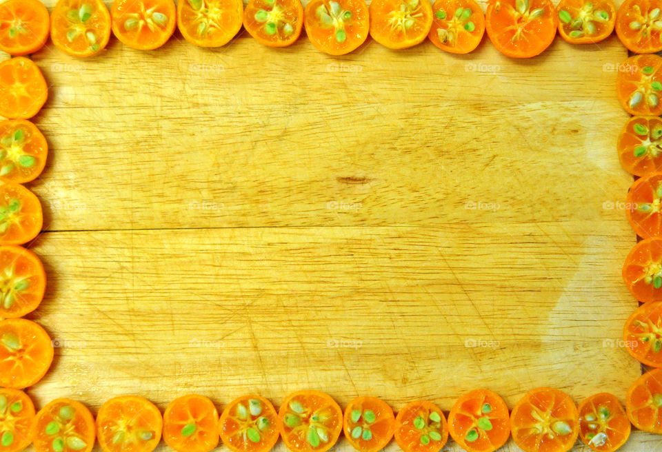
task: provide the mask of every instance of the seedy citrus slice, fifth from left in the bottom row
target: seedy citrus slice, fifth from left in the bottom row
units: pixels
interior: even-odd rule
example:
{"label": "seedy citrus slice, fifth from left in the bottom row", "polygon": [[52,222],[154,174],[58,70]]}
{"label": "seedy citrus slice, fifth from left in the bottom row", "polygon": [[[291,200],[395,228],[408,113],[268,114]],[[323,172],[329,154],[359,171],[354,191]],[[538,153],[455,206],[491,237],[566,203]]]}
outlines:
{"label": "seedy citrus slice, fifth from left in the bottom row", "polygon": [[278,441],[278,415],[261,396],[243,396],[225,407],[219,422],[223,444],[233,452],[269,452]]}

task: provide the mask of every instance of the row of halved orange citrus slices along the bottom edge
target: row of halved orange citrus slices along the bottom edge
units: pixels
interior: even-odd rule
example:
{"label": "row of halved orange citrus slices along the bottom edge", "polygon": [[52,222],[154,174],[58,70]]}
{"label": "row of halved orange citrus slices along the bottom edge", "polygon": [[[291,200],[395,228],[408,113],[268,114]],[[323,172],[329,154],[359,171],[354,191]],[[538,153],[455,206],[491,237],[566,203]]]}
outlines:
{"label": "row of halved orange citrus slices along the bottom edge", "polygon": [[177,398],[163,416],[145,398],[121,396],[97,414],[80,402],[57,399],[35,414],[18,389],[0,389],[0,451],[90,452],[95,440],[104,452],[152,452],[161,438],[177,452],[209,452],[219,438],[232,452],[268,452],[282,438],[292,452],[326,452],[341,432],[359,452],[377,452],[394,437],[404,452],[439,452],[453,438],[469,452],[492,452],[512,435],[525,452],[567,452],[576,439],[600,452],[619,449],[630,422],[662,433],[655,422],[662,407],[661,369],[642,376],[628,391],[627,411],[610,393],[584,400],[579,409],[558,389],[526,394],[509,413],[499,395],[477,389],[463,395],[448,422],[436,404],[410,402],[394,415],[379,398],[359,397],[341,410],[328,394],[290,394],[279,411],[261,396],[233,400],[221,413],[205,396]]}

